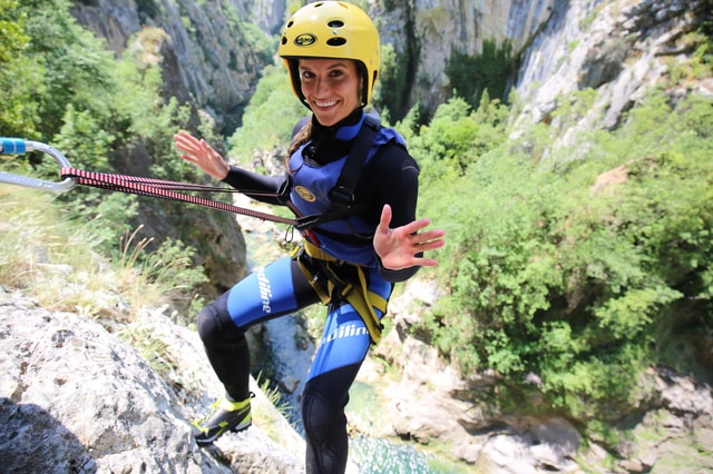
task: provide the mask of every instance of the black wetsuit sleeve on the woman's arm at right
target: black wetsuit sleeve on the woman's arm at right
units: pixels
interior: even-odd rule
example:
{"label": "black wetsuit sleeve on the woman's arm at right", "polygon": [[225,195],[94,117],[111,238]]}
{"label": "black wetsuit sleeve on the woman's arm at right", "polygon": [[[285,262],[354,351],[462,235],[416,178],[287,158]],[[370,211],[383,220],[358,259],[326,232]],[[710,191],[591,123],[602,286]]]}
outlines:
{"label": "black wetsuit sleeve on the woman's arm at right", "polygon": [[[419,168],[409,152],[397,144],[388,145],[374,157],[370,169],[372,189],[375,194],[375,210],[381,216],[385,204],[391,206],[391,228],[416,220],[419,194]],[[380,264],[380,274],[388,282],[397,283],[411,278],[420,267],[391,270]]]}

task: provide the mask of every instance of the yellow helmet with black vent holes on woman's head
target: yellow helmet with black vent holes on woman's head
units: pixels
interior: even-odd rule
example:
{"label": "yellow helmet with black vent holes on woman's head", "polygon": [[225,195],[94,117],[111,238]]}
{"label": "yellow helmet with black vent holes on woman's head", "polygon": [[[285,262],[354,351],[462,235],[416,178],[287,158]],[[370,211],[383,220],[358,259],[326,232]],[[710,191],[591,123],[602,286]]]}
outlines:
{"label": "yellow helmet with black vent holes on woman's head", "polygon": [[297,10],[282,29],[277,55],[284,59],[292,89],[310,107],[300,87],[299,58],[353,59],[364,79],[362,106],[371,100],[379,76],[381,41],[371,18],[344,1],[318,1]]}

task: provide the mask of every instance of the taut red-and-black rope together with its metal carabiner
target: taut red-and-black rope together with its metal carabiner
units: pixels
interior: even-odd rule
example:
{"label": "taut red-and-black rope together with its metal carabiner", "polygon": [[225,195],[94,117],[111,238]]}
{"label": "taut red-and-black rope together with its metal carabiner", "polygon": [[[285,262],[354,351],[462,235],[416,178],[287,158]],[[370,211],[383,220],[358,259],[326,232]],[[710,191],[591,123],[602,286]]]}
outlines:
{"label": "taut red-and-black rope together with its metal carabiner", "polygon": [[72,168],[69,160],[55,148],[39,141],[29,141],[20,138],[0,138],[0,155],[25,155],[28,151],[42,151],[55,158],[60,165],[61,181],[47,181],[27,176],[0,172],[0,182],[23,186],[28,188],[49,190],[55,192],[66,192],[75,188],[76,185],[85,185],[101,189],[116,190],[139,196],[149,196],[160,199],[178,200],[195,204],[218,210],[235,213],[262,220],[289,224],[297,230],[304,230],[314,225],[319,216],[305,216],[296,219],[261,213],[231,204],[219,203],[177,191],[222,191],[224,188],[216,188],[203,185],[192,185],[186,182],[165,181],[160,179],[140,178],[126,175],[114,175],[108,172],[85,171]]}

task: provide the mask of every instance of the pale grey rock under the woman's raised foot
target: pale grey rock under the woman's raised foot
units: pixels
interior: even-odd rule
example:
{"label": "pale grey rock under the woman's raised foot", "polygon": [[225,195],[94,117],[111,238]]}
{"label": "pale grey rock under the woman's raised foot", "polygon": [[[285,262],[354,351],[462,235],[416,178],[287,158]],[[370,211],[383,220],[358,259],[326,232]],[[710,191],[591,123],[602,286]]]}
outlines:
{"label": "pale grey rock under the woman's raised foot", "polygon": [[[222,391],[197,335],[162,310],[113,334],[0,287],[0,334],[3,472],[304,471],[302,438],[256,386],[251,428],[195,444],[188,421]],[[143,353],[123,340],[147,338]]]}

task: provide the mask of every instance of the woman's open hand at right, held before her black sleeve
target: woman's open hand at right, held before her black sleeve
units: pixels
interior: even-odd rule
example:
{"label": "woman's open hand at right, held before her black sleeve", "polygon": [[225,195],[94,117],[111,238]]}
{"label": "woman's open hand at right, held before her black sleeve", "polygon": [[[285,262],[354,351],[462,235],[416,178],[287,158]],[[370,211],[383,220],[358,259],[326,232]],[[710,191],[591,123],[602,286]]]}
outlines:
{"label": "woman's open hand at right, held before her black sleeve", "polygon": [[406,226],[390,228],[391,206],[385,205],[381,211],[381,221],[374,234],[374,250],[381,258],[381,265],[391,270],[400,270],[413,266],[432,267],[438,264],[433,258],[417,257],[427,250],[434,250],[443,246],[441,237],[446,234],[441,229],[419,230],[428,227],[431,219],[418,219]]}

